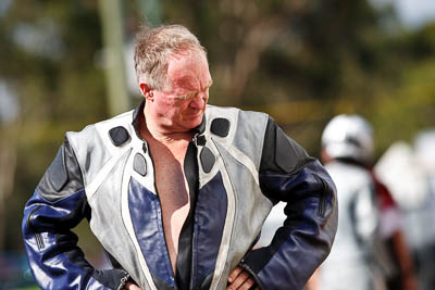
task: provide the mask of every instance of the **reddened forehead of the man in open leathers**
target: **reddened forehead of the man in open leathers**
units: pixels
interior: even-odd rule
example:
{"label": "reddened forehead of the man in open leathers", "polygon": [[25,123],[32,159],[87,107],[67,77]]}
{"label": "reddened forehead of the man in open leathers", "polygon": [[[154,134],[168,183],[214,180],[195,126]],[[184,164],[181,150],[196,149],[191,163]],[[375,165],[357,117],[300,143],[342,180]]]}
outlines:
{"label": "reddened forehead of the man in open leathers", "polygon": [[209,63],[204,53],[199,51],[171,56],[167,77],[173,89],[181,87],[198,90],[211,85]]}

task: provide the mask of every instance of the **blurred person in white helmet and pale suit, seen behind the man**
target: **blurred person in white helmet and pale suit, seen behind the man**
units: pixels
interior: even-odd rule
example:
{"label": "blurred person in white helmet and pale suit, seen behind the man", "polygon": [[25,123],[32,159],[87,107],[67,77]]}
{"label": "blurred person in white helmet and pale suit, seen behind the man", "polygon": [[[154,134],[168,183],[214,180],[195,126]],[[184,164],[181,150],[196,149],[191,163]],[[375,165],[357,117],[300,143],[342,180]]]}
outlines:
{"label": "blurred person in white helmet and pale suit, seen behind the man", "polygon": [[322,134],[321,157],[337,186],[339,218],[331,255],[310,285],[318,290],[417,290],[400,213],[370,167],[371,125],[359,115],[334,117]]}

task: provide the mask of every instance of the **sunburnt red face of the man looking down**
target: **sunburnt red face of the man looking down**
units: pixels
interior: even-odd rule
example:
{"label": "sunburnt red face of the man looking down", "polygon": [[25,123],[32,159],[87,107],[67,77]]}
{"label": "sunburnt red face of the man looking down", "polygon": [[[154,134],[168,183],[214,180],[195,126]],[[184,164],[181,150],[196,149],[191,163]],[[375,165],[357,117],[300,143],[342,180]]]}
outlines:
{"label": "sunburnt red face of the man looking down", "polygon": [[212,79],[206,55],[190,52],[167,63],[170,91],[152,90],[153,115],[166,130],[188,131],[201,124]]}

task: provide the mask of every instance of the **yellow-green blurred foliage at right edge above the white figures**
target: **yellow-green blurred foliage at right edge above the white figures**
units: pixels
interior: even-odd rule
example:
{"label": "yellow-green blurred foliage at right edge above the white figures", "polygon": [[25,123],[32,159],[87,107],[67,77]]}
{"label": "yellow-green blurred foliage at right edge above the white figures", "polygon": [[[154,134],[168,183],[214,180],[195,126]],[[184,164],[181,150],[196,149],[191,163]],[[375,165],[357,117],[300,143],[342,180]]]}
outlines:
{"label": "yellow-green blurred foliage at right edge above the white figures", "polygon": [[435,24],[394,37],[388,43],[390,74],[373,91],[370,117],[382,152],[400,138],[435,126]]}

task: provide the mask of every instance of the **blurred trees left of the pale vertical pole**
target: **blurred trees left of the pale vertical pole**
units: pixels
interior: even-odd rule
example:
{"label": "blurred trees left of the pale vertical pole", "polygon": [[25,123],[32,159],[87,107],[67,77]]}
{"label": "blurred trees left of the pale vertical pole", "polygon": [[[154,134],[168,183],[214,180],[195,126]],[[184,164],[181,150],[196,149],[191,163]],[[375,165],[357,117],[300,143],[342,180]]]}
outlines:
{"label": "blurred trees left of the pale vertical pole", "polygon": [[[97,4],[16,0],[0,17],[0,77],[15,89],[21,103],[13,128],[17,174],[14,194],[5,200],[4,250],[22,249],[24,202],[64,133],[108,115]],[[12,139],[2,131],[2,140]]]}

